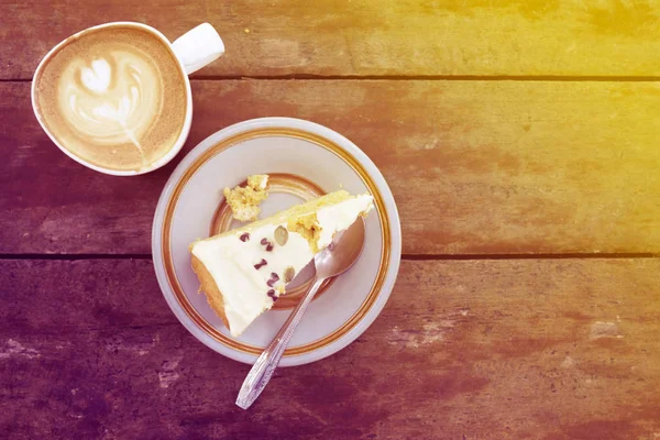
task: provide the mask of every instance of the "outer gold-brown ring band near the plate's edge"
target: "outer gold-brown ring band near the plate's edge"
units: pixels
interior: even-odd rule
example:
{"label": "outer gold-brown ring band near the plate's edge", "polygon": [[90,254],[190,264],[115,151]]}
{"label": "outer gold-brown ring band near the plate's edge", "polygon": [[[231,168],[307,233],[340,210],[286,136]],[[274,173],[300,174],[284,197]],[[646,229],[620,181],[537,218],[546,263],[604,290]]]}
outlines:
{"label": "outer gold-brown ring band near the plate's edge", "polygon": [[381,220],[381,262],[378,265],[378,273],[372,284],[371,290],[360,308],[349,318],[340,328],[334,330],[333,332],[320,338],[316,341],[309,342],[304,345],[297,345],[286,349],[284,352],[285,356],[295,356],[305,353],[309,353],[311,351],[321,349],[337,341],[349,331],[351,331],[358,322],[360,322],[364,316],[372,308],[378,294],[381,293],[381,288],[385,283],[385,276],[387,275],[387,267],[389,266],[389,254],[391,254],[391,245],[392,238],[389,233],[389,218],[387,216],[387,210],[385,208],[385,201],[383,200],[383,196],[378,191],[378,188],[372,177],[369,175],[366,169],[362,166],[362,164],[353,157],[349,152],[344,151],[340,145],[331,142],[330,140],[319,136],[314,133],[306,132],[304,130],[290,129],[290,128],[267,128],[267,129],[255,129],[245,131],[243,133],[239,133],[237,135],[227,138],[221,142],[215,144],[207,151],[205,151],[199,157],[193,162],[193,164],[184,172],[182,178],[177,182],[176,186],[173,189],[172,196],[167,201],[167,206],[165,208],[165,216],[163,219],[163,231],[162,231],[162,240],[163,240],[163,262],[165,266],[165,274],[167,275],[167,282],[169,287],[174,293],[174,297],[186,315],[197,324],[198,328],[204,330],[209,337],[213,340],[220,342],[221,344],[243,352],[248,354],[258,355],[263,351],[263,348],[246,344],[244,342],[232,339],[221,331],[211,326],[190,304],[188,298],[186,297],[184,289],[182,288],[179,280],[176,276],[176,272],[174,270],[174,262],[172,258],[170,251],[170,235],[172,235],[172,222],[174,218],[174,211],[176,209],[177,202],[180,198],[180,195],[186,186],[186,184],[190,180],[190,178],[195,175],[195,173],[206,164],[211,157],[215,157],[220,152],[233,146],[238,143],[245,142],[253,139],[265,138],[265,136],[282,136],[282,138],[294,138],[304,141],[311,142],[331,153],[340,157],[362,179],[364,185],[367,187],[369,191],[374,197],[374,205],[376,208],[376,212],[378,215],[378,219]]}

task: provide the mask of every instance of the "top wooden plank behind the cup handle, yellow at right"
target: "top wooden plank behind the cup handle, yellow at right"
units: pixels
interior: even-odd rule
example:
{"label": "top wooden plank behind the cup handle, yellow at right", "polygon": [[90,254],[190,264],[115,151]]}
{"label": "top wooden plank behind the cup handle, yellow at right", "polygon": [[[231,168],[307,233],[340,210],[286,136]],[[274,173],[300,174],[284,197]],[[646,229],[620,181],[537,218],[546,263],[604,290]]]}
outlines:
{"label": "top wooden plank behind the cup handle, yellow at right", "polygon": [[198,76],[658,76],[660,2],[649,0],[9,0],[0,78],[31,78],[70,34],[141,21],[174,40],[200,22],[224,58]]}

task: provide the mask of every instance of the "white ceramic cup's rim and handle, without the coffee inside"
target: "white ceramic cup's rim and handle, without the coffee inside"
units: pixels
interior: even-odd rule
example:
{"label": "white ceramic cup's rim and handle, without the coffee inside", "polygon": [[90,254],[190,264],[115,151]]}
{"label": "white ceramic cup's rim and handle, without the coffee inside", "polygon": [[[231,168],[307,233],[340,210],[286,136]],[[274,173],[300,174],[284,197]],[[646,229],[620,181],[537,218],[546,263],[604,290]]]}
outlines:
{"label": "white ceramic cup's rim and handle, without the coffee inside", "polygon": [[[169,45],[172,47],[174,54],[176,55],[176,58],[178,59],[178,64],[182,68],[182,72],[184,73],[183,77],[185,78],[185,81],[186,81],[186,117],[185,117],[184,127],[182,129],[182,132],[180,132],[178,139],[176,140],[176,142],[172,146],[172,148],[167,152],[167,154],[165,154],[158,161],[150,164],[147,167],[141,168],[139,170],[117,170],[117,169],[103,168],[103,167],[91,164],[91,163],[78,157],[77,155],[72,153],[69,150],[67,150],[65,145],[62,145],[62,143],[47,129],[46,124],[42,120],[42,117],[41,117],[37,106],[36,106],[37,91],[36,91],[35,79],[37,78],[41,69],[46,64],[46,62],[54,54],[56,54],[58,52],[58,48],[61,46],[67,44],[72,38],[76,38],[87,32],[102,29],[102,28],[121,26],[121,25],[133,25],[133,26],[142,28],[145,31],[152,33],[154,36],[161,38],[165,44]],[[113,176],[136,176],[140,174],[145,174],[145,173],[152,172],[154,169],[157,169],[157,168],[164,166],[165,164],[167,164],[169,161],[172,161],[174,158],[174,156],[176,156],[177,153],[182,150],[182,147],[184,146],[184,143],[186,142],[186,139],[188,138],[188,134],[190,132],[190,124],[193,122],[193,94],[190,91],[190,79],[188,78],[188,75],[199,70],[200,68],[205,67],[206,65],[210,64],[211,62],[218,59],[223,53],[224,53],[224,44],[222,43],[220,35],[218,35],[218,33],[216,32],[213,26],[211,26],[209,23],[202,23],[202,24],[198,25],[197,28],[188,31],[187,33],[185,33],[184,35],[178,37],[174,43],[170,43],[167,40],[167,37],[165,37],[165,35],[163,35],[156,29],[148,26],[146,24],[143,24],[143,23],[111,22],[111,23],[100,24],[98,26],[88,28],[84,31],[76,33],[75,35],[69,36],[68,38],[66,38],[63,42],[61,42],[59,44],[57,44],[41,61],[41,63],[38,64],[35,73],[34,73],[34,77],[33,77],[33,81],[32,81],[32,110],[34,111],[34,114],[35,114],[38,123],[41,124],[42,129],[46,132],[48,138],[51,138],[53,143],[55,145],[57,145],[59,147],[59,150],[62,150],[67,156],[69,156],[74,161],[78,162],[79,164],[82,164],[82,165],[87,166],[88,168],[95,169],[97,172],[113,175]]]}

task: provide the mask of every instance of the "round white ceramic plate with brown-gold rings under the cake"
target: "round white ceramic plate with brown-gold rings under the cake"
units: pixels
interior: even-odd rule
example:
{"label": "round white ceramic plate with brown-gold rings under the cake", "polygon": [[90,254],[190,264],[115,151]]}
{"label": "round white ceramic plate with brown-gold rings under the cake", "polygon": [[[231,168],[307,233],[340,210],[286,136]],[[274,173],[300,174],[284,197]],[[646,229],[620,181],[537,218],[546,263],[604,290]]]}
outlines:
{"label": "round white ceramic plate with brown-gold rings under the cake", "polygon": [[[346,346],[376,319],[394,286],[402,253],[400,223],[389,187],[373,162],[351,141],[322,125],[263,118],[221,130],[197,145],[167,182],[154,217],[152,251],[167,304],[182,323],[212,350],[254,363],[290,310],[263,314],[232,338],[198,293],[188,245],[209,237],[222,188],[251,174],[294,175],[330,193],[371,193],[376,209],[366,219],[364,251],[309,306],[280,365],[318,361]],[[300,200],[273,193],[262,205],[270,216]]]}

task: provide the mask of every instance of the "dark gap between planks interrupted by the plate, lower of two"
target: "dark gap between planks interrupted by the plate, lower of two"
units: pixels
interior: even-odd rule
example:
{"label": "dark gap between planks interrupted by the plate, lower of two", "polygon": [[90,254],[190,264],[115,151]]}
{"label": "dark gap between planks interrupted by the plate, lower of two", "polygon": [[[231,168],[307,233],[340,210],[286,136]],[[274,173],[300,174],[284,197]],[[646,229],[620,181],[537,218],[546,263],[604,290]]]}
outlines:
{"label": "dark gap between planks interrupted by the plate, lower of two", "polygon": [[[539,253],[539,254],[403,254],[404,261],[477,261],[477,260],[620,260],[658,258],[653,253]],[[0,260],[152,260],[152,254],[0,254]]]}

